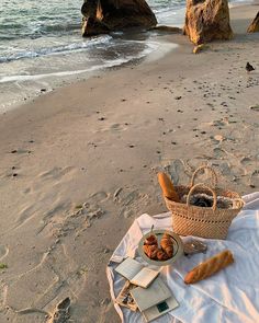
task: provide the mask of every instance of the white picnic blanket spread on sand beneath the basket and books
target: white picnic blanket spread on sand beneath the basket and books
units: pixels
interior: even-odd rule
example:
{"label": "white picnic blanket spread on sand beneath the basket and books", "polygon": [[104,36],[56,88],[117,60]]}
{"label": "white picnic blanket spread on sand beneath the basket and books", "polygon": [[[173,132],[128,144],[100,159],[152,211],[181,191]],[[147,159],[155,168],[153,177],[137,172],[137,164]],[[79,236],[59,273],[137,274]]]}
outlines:
{"label": "white picnic blanket spread on sand beneath the basket and books", "polygon": [[[201,239],[207,244],[206,254],[181,256],[170,266],[161,269],[164,281],[172,290],[179,308],[157,319],[156,323],[254,323],[259,322],[259,192],[243,197],[246,206],[233,220],[227,240]],[[144,233],[155,229],[171,230],[171,214],[137,218],[114,251],[106,268],[113,301],[125,279],[114,268],[126,256],[138,256],[136,249]],[[187,238],[183,238],[183,241]],[[187,286],[185,274],[200,262],[229,249],[235,263],[218,274]],[[115,304],[125,323],[145,322],[142,314]]]}

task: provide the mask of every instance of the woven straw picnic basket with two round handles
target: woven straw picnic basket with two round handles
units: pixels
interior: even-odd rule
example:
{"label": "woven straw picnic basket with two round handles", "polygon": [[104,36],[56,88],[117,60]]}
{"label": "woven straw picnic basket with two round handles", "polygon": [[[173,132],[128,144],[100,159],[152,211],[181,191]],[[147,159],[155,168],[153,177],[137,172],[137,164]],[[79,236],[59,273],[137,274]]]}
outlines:
{"label": "woven straw picnic basket with two round handles", "polygon": [[[207,169],[212,175],[213,185],[195,184],[194,178],[201,170]],[[174,186],[180,199],[187,195],[187,203],[176,203],[165,197],[167,208],[172,212],[173,231],[180,235],[195,235],[210,239],[226,239],[232,220],[244,206],[239,194],[217,187],[217,176],[213,169],[201,166],[195,170],[189,186]],[[205,193],[213,196],[212,207],[190,205],[193,193]],[[230,198],[233,208],[217,208],[217,196]]]}

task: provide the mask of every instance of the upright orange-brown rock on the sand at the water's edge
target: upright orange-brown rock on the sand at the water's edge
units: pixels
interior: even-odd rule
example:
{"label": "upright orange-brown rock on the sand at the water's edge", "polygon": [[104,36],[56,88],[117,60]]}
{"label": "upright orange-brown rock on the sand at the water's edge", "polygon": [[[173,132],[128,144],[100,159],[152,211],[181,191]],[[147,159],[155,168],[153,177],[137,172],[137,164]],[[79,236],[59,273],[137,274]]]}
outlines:
{"label": "upright orange-brown rock on the sand at the water's edge", "polygon": [[183,34],[195,45],[214,39],[230,39],[227,0],[187,0]]}

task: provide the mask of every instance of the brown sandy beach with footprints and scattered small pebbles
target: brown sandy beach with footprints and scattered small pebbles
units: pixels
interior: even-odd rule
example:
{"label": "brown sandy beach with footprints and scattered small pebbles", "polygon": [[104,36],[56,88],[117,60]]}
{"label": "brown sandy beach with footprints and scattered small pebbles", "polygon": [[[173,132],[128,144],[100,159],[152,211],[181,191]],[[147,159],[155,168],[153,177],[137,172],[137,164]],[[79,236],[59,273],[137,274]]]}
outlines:
{"label": "brown sandy beach with footprints and scattered small pebbles", "polygon": [[[230,10],[235,37],[102,72],[0,115],[0,322],[120,322],[106,263],[133,220],[166,211],[156,174],[259,191],[259,4]],[[246,62],[255,66],[247,73]],[[59,309],[60,310],[60,309]],[[59,316],[66,311],[59,311]]]}

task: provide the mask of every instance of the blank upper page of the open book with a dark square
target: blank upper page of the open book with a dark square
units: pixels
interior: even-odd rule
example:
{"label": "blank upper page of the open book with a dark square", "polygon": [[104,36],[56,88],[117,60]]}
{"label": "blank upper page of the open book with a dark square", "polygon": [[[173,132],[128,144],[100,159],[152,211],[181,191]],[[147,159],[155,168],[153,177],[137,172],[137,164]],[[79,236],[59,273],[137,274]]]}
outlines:
{"label": "blank upper page of the open book with a dark square", "polygon": [[171,297],[171,291],[160,277],[157,277],[147,288],[137,287],[131,291],[137,307],[144,311]]}

